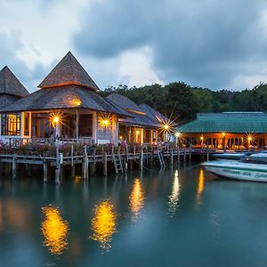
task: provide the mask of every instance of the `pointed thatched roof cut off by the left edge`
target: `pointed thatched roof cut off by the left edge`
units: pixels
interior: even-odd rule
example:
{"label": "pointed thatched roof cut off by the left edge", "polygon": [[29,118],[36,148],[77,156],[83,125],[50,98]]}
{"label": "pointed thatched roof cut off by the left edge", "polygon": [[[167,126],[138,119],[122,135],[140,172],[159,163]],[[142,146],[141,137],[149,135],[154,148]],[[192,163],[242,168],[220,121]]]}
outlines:
{"label": "pointed thatched roof cut off by the left edge", "polygon": [[14,76],[12,71],[5,66],[0,71],[0,94],[11,94],[19,97],[28,95],[26,88],[21,85],[17,77]]}

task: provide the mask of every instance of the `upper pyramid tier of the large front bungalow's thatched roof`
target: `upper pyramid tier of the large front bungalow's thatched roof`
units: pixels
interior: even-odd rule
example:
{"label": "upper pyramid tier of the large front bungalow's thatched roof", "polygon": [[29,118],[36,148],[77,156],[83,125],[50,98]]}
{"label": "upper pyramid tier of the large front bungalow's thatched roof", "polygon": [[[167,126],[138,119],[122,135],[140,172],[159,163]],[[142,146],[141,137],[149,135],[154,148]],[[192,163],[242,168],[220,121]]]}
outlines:
{"label": "upper pyramid tier of the large front bungalow's thatched roof", "polygon": [[62,85],[79,85],[94,91],[99,90],[93,79],[70,52],[53,68],[38,87],[52,88]]}

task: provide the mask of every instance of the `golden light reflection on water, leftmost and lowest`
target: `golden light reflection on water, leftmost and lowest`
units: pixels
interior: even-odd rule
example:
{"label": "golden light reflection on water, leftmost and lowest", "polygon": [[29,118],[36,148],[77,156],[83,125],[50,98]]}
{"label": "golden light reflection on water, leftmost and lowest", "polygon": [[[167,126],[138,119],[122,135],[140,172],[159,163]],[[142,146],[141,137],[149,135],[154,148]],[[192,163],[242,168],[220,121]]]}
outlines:
{"label": "golden light reflection on water, leftmost and lowest", "polygon": [[41,227],[44,236],[44,246],[48,248],[52,255],[61,255],[68,246],[68,223],[62,219],[57,207],[44,206],[42,211],[45,216]]}

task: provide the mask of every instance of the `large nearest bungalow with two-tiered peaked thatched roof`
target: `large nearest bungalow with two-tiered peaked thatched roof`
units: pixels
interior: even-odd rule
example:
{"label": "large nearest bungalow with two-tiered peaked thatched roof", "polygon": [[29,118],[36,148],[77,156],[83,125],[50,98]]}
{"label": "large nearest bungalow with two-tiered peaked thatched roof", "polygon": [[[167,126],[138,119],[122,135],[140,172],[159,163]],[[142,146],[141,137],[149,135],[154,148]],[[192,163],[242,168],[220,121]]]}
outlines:
{"label": "large nearest bungalow with two-tiered peaked thatched roof", "polygon": [[[130,115],[96,93],[99,87],[72,53],[38,87],[0,110],[2,139],[58,136],[117,143],[117,120]],[[16,131],[12,125],[17,125]]]}

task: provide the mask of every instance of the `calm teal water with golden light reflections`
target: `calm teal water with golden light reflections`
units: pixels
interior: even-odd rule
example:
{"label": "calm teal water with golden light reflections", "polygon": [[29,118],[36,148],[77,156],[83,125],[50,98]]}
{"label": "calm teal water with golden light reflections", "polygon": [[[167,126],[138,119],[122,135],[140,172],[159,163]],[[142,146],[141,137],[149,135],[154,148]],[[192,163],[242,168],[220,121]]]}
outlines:
{"label": "calm teal water with golden light reflections", "polygon": [[0,266],[267,266],[267,183],[192,165],[0,186]]}

